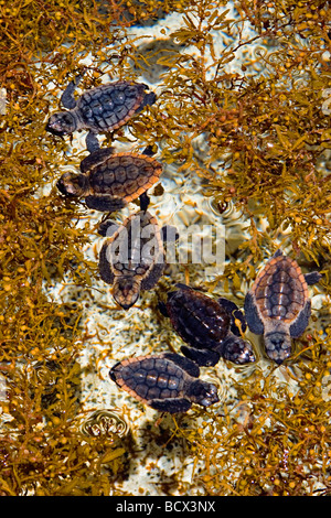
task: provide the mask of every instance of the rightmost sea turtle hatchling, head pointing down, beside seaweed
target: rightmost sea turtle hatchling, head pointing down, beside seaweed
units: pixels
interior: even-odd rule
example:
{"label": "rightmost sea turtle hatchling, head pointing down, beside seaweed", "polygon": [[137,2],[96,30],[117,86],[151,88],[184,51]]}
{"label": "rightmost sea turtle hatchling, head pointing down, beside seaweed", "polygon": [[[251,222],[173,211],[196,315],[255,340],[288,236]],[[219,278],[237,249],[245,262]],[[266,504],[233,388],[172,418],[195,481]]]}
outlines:
{"label": "rightmost sea turtle hatchling, head pointing down, beside seaweed", "polygon": [[317,283],[321,277],[317,271],[303,276],[297,261],[277,250],[246,294],[248,327],[264,335],[266,353],[276,364],[290,356],[291,338],[301,336],[308,326],[308,284]]}

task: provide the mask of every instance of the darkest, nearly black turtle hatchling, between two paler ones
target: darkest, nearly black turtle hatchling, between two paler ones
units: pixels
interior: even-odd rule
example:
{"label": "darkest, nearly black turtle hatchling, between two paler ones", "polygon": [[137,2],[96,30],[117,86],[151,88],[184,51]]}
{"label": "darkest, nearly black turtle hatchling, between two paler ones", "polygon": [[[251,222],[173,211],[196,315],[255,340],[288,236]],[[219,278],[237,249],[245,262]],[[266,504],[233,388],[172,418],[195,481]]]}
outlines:
{"label": "darkest, nearly black turtle hatchling, between two paler ones", "polygon": [[255,361],[249,342],[241,337],[236,323],[244,332],[246,322],[234,302],[216,301],[185,284],[177,288],[159,307],[189,344],[181,347],[188,358],[200,366],[216,365],[221,357],[239,365]]}

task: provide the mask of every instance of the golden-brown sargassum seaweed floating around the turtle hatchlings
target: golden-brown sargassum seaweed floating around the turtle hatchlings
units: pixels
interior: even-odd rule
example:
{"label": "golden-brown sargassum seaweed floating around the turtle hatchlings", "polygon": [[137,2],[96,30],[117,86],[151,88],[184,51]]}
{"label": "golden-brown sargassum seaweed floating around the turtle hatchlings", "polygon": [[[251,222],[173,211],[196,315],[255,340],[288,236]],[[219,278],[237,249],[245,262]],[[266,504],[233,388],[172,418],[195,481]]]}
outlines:
{"label": "golden-brown sargassum seaweed floating around the turtle hatchlings", "polygon": [[[137,454],[130,441],[82,439],[76,360],[88,338],[79,326],[81,302],[55,302],[45,293],[56,282],[88,290],[96,265],[82,252],[92,229],[76,226],[85,208],[64,203],[55,187],[40,194],[58,180],[70,144],[70,138],[46,134],[45,121],[88,55],[93,65],[82,89],[99,85],[105,73],[139,80],[138,65],[149,67],[156,56],[139,55],[130,26],[175,12],[182,22],[171,34],[178,46],[160,63],[162,94],[130,121],[129,137],[121,129],[111,137],[137,149],[162,142],[163,164],[201,176],[205,196],[242,213],[249,238],[215,280],[225,294],[243,295],[242,287],[252,285],[281,246],[305,272],[323,271],[312,290],[324,299],[288,366],[275,370],[257,361],[241,377],[232,370],[237,400],[226,399],[223,414],[194,408],[184,420],[161,423],[164,433],[146,431],[146,444],[169,440],[182,447],[183,467],[158,487],[212,496],[330,490],[330,4],[213,6],[0,2],[1,495],[116,495]],[[236,72],[227,66],[239,60]],[[195,153],[199,139],[204,155]],[[78,166],[82,153],[72,151]],[[44,375],[36,376],[41,365]],[[189,456],[200,466],[190,483],[182,477]]]}

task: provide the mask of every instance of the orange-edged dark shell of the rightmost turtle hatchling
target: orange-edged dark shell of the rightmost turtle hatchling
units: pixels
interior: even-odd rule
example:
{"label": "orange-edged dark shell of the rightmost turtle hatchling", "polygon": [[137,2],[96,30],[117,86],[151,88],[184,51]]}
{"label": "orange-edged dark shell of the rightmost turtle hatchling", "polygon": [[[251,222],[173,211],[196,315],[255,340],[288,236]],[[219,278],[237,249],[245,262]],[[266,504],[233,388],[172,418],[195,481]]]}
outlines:
{"label": "orange-edged dark shell of the rightmost turtle hatchling", "polygon": [[308,287],[297,261],[281,255],[274,257],[259,272],[252,294],[261,320],[290,324],[308,301]]}

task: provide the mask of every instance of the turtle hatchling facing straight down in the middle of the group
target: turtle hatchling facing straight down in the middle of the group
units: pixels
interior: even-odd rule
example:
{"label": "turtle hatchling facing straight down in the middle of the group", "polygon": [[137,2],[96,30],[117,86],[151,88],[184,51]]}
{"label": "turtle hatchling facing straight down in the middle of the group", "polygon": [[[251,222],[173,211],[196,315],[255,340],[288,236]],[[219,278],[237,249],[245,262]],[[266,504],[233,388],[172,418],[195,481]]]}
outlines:
{"label": "turtle hatchling facing straight down in the middle of the group", "polygon": [[130,215],[122,225],[104,222],[99,234],[108,236],[99,253],[102,279],[113,284],[113,296],[125,310],[131,307],[142,290],[151,290],[164,269],[163,241],[175,241],[174,227],[160,228],[147,211]]}

